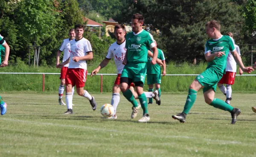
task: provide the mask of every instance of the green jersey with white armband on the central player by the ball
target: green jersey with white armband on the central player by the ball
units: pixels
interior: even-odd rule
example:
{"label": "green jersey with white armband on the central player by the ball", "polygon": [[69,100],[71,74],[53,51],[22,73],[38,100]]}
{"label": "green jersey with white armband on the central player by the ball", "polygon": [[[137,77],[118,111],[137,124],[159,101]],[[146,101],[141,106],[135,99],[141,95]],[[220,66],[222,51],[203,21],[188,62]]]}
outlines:
{"label": "green jersey with white armband on the central player by the ball", "polygon": [[142,30],[135,34],[130,32],[126,35],[125,48],[127,49],[127,63],[146,63],[148,62],[148,50],[154,48],[153,36]]}

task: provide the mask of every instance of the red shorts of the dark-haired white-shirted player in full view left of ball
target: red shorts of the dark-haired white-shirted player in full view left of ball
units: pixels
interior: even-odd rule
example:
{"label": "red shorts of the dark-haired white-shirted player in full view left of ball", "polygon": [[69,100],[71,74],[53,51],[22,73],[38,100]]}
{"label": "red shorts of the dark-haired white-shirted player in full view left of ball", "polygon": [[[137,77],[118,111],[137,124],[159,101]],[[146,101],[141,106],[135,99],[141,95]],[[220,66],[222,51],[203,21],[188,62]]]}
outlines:
{"label": "red shorts of the dark-haired white-shirted player in full view left of ball", "polygon": [[80,68],[68,68],[66,75],[66,84],[72,84],[77,88],[84,87],[86,81],[87,70]]}

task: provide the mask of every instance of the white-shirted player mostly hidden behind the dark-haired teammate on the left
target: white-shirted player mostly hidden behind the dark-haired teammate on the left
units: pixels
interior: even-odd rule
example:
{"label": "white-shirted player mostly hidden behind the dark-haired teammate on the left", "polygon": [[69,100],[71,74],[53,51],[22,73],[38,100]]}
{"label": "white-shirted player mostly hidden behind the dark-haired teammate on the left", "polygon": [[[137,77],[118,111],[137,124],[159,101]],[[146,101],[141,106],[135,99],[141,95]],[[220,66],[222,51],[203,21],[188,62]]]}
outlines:
{"label": "white-shirted player mostly hidden behind the dark-haired teammate on the left", "polygon": [[[76,34],[75,34],[75,29],[72,28],[69,30],[68,33],[69,38],[64,39],[63,42],[61,43],[61,47],[59,48],[58,52],[57,52],[57,56],[56,56],[56,67],[58,66],[58,64],[60,64],[60,56],[61,53],[63,52],[63,60],[62,62],[65,62],[67,59],[70,58],[70,41],[75,39]],[[65,87],[65,77],[67,74],[67,67],[68,67],[69,63],[64,65],[64,67],[61,68],[61,84],[59,86],[59,104],[60,105],[66,105],[63,100],[62,100],[62,95],[64,93],[64,87]],[[72,95],[74,93],[74,87],[72,88]]]}

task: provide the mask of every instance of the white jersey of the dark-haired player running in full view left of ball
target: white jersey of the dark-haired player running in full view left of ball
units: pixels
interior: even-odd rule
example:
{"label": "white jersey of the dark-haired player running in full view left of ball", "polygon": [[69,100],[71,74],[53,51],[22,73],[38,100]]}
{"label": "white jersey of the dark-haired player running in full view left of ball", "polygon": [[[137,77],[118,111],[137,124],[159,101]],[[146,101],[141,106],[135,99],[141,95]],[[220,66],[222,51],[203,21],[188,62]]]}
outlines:
{"label": "white jersey of the dark-haired player running in full view left of ball", "polygon": [[78,41],[73,39],[70,41],[70,49],[70,64],[68,68],[81,68],[87,70],[87,64],[85,60],[75,62],[72,58],[75,56],[83,57],[86,56],[88,52],[93,52],[89,40],[85,39],[84,37]]}

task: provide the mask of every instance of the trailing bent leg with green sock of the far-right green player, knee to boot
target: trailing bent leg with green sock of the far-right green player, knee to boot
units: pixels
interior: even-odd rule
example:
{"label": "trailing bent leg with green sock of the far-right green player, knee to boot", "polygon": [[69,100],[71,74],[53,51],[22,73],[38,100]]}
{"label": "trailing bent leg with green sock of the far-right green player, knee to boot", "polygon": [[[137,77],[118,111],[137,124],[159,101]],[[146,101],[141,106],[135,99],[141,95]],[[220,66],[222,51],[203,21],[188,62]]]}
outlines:
{"label": "trailing bent leg with green sock of the far-right green player, knee to boot", "polygon": [[210,89],[204,92],[205,102],[215,108],[230,112],[232,117],[231,124],[235,124],[237,116],[241,113],[240,109],[233,108],[232,106],[228,105],[221,99],[214,98],[214,97],[215,97],[214,89]]}

